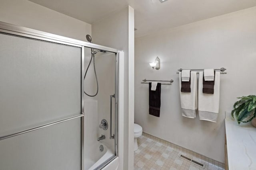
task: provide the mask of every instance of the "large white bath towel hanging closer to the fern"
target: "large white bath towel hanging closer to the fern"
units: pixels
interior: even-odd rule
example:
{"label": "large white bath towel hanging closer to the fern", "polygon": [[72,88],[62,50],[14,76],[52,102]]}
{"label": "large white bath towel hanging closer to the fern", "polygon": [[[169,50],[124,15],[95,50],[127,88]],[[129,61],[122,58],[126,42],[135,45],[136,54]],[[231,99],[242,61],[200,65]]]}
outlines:
{"label": "large white bath towel hanging closer to the fern", "polygon": [[198,80],[198,113],[200,120],[217,122],[220,106],[220,72],[215,72],[214,94],[203,93],[203,72]]}

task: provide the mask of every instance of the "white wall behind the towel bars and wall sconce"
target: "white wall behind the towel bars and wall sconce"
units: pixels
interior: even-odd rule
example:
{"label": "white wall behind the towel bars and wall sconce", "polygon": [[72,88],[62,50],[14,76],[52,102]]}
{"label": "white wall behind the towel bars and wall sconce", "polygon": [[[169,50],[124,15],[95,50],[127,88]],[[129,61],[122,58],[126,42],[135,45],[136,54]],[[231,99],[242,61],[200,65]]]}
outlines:
{"label": "white wall behind the towel bars and wall sconce", "polygon": [[[190,23],[135,40],[135,123],[143,131],[224,162],[224,118],[238,96],[255,94],[256,7]],[[156,57],[160,70],[148,63]],[[179,68],[227,68],[221,74],[218,122],[181,116]],[[148,114],[142,79],[170,80],[162,86],[160,117]]]}

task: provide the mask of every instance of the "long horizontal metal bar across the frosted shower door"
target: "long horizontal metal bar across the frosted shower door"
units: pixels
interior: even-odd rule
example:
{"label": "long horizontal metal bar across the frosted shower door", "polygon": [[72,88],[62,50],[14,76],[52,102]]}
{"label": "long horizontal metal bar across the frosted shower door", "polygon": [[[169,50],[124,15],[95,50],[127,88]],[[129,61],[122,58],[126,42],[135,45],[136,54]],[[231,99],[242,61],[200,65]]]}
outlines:
{"label": "long horizontal metal bar across the frosted shower door", "polygon": [[46,124],[44,124],[44,125],[40,125],[40,126],[37,126],[37,127],[33,127],[33,128],[30,128],[30,129],[27,129],[27,130],[20,131],[20,132],[12,133],[12,134],[10,134],[10,135],[5,135],[5,136],[0,137],[0,141],[1,141],[1,140],[4,140],[4,139],[8,139],[8,138],[10,138],[10,137],[15,137],[15,136],[18,136],[18,135],[22,135],[22,134],[24,134],[24,133],[28,133],[28,132],[31,132],[31,131],[35,131],[35,130],[41,129],[41,128],[43,128],[43,127],[48,127],[48,126],[51,126],[51,125],[56,125],[56,124],[62,123],[62,122],[64,122],[64,121],[68,121],[68,120],[75,119],[75,118],[78,118],[78,117],[83,117],[83,116],[84,116],[84,113],[82,113],[82,114],[80,114],[80,115],[68,117],[68,118],[66,118],[66,119],[54,121],[54,122],[52,122],[52,123],[46,123]]}

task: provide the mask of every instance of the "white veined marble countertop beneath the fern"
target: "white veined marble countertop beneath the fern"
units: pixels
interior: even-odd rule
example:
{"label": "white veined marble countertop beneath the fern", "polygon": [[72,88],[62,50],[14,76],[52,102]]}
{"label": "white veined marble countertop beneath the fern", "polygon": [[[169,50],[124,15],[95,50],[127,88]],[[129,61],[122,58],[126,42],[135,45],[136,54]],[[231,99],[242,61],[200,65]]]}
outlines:
{"label": "white veined marble countertop beneath the fern", "polygon": [[256,170],[256,127],[225,119],[229,170]]}

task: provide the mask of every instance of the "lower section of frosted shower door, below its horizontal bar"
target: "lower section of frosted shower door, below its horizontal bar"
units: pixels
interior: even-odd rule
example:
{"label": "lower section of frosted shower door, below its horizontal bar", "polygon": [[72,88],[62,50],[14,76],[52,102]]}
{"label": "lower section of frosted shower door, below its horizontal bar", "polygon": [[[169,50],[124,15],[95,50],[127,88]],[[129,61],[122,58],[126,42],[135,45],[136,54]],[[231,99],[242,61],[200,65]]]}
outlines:
{"label": "lower section of frosted shower door, below its horizontal bar", "polygon": [[81,119],[0,141],[0,170],[81,170]]}

